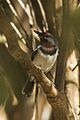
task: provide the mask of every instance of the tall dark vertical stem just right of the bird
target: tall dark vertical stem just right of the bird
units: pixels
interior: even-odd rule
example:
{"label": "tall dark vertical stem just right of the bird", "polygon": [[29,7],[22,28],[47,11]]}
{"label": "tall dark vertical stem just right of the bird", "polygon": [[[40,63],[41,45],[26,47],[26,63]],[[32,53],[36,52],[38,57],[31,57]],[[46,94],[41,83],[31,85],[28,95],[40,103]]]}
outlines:
{"label": "tall dark vertical stem just right of the bird", "polygon": [[70,24],[70,5],[67,0],[63,0],[63,18],[61,26],[61,39],[60,39],[60,54],[58,57],[57,73],[56,73],[56,86],[57,89],[64,92],[65,85],[65,73],[66,73],[66,62],[70,46],[72,45],[72,31]]}

